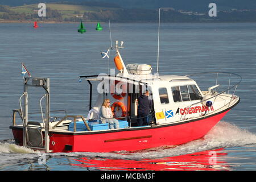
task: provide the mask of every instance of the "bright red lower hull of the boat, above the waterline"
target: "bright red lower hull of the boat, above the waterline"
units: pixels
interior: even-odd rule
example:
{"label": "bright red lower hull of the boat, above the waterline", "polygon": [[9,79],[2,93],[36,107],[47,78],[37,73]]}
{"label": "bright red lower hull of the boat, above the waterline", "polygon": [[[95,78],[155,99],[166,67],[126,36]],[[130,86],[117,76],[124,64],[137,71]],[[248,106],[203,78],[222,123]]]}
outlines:
{"label": "bright red lower hull of the boat, above the waterline", "polygon": [[[176,146],[204,137],[229,110],[196,121],[150,129],[134,128],[124,131],[97,133],[51,132],[49,150],[53,152],[112,152],[137,151],[160,146]],[[15,140],[22,144],[22,130],[12,127]]]}

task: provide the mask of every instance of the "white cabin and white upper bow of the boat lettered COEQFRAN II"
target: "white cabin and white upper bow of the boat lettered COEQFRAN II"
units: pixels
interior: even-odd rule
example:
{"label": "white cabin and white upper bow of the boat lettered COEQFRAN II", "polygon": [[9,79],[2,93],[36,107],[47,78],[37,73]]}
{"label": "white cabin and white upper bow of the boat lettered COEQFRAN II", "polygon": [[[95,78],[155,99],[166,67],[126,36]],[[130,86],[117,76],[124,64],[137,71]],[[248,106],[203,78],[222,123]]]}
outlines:
{"label": "white cabin and white upper bow of the boat lettered COEQFRAN II", "polygon": [[[125,105],[125,110],[113,109],[115,117],[121,117],[125,111],[125,115],[131,118],[131,123],[137,122],[137,99],[146,89],[150,91],[150,98],[153,101],[154,113],[151,119],[156,125],[214,114],[239,100],[234,94],[212,93],[211,90],[219,85],[202,91],[196,81],[187,76],[152,75],[150,65],[129,64],[129,69],[126,69],[118,48],[120,47],[116,46],[117,56],[114,59],[119,69],[117,75],[98,75],[93,78],[81,76],[86,77],[89,82],[100,81],[97,83],[98,89],[100,88],[97,101],[93,105],[90,103],[90,109],[96,110],[97,114],[90,112],[89,118],[97,118],[102,102],[109,98],[111,104],[120,102]],[[206,106],[207,101],[212,105]]]}

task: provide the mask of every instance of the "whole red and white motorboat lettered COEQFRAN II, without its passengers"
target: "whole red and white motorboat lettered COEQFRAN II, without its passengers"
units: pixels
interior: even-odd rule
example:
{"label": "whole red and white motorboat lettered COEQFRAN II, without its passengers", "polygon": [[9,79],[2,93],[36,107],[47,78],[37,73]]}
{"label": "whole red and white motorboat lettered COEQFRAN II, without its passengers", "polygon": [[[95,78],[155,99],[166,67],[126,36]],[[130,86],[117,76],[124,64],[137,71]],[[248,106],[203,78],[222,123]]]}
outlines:
{"label": "whole red and white motorboat lettered COEQFRAN II, without its passengers", "polygon": [[[192,76],[152,75],[150,65],[125,65],[118,42],[115,49],[115,74],[80,76],[89,82],[89,114],[50,117],[49,78],[24,77],[24,93],[20,97],[20,109],[14,110],[13,131],[16,144],[45,152],[112,152],[138,151],[155,147],[174,147],[204,137],[213,126],[234,106],[240,98],[234,95],[241,77],[226,73],[228,88],[222,92],[217,75],[215,85],[202,91]],[[112,70],[113,72],[113,70]],[[110,71],[111,73],[111,71]],[[210,72],[212,73],[212,72]],[[209,79],[208,73],[203,73]],[[230,77],[238,81],[230,85]],[[92,103],[92,86],[96,85],[98,97]],[[43,88],[46,92],[40,100],[42,121],[30,121],[28,113],[28,88]],[[149,124],[137,126],[137,98],[150,90],[153,101]],[[229,93],[232,92],[232,93]],[[42,100],[46,99],[46,110]],[[120,128],[109,129],[98,116],[105,98],[109,98]],[[23,103],[22,103],[23,100]],[[22,123],[16,123],[19,113]]]}

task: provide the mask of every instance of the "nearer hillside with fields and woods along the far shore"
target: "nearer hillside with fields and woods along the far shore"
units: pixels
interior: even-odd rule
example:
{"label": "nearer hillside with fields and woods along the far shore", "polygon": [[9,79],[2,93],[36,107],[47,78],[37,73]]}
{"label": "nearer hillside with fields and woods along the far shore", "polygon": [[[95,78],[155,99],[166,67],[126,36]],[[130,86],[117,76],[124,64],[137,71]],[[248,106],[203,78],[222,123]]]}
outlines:
{"label": "nearer hillside with fields and woods along the far shore", "polygon": [[[89,4],[87,3],[87,5]],[[47,3],[47,16],[45,18],[39,18],[38,4],[15,7],[0,5],[0,21],[80,22],[83,20],[84,22],[108,22],[110,19],[112,23],[158,22],[158,10],[125,9],[118,6],[101,7],[97,3],[93,3],[93,5],[97,6]],[[108,5],[110,4],[106,3],[106,6]],[[255,10],[223,10],[218,11],[217,17],[209,17],[208,10],[198,13],[196,11],[164,8],[161,11],[161,22],[256,22]]]}

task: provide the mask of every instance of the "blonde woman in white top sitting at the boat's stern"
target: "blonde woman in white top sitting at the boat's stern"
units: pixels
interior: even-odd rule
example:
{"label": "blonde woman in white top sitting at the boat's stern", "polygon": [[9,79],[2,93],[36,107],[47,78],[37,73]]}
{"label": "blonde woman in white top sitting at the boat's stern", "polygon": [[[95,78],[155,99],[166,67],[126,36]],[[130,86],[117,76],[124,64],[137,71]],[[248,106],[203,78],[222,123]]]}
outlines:
{"label": "blonde woman in white top sitting at the boat's stern", "polygon": [[118,129],[119,122],[113,118],[112,110],[110,108],[110,100],[106,98],[101,106],[100,115],[103,123],[109,123],[110,129]]}

